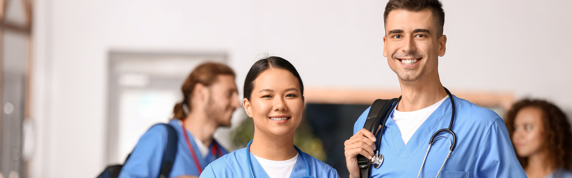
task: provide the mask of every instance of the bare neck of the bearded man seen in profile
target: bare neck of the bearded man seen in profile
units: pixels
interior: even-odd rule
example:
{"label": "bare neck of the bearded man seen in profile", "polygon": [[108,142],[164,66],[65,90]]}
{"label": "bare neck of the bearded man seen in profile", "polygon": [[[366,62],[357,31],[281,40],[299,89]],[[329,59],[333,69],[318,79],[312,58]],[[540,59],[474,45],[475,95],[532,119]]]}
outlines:
{"label": "bare neck of the bearded man seen in profile", "polygon": [[210,120],[204,112],[190,112],[184,120],[184,127],[207,147],[213,140],[213,133],[219,127],[216,122]]}

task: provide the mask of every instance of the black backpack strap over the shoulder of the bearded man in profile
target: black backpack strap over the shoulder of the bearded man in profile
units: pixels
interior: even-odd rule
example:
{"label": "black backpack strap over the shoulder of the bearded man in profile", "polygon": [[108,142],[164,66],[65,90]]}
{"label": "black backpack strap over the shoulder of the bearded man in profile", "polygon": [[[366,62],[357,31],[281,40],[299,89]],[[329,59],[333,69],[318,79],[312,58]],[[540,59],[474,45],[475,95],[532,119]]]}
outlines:
{"label": "black backpack strap over the shoulder of the bearded man in profile", "polygon": [[169,124],[163,124],[167,129],[167,146],[165,152],[163,152],[163,159],[161,161],[161,171],[159,173],[159,178],[168,178],[171,168],[173,168],[173,163],[175,162],[175,156],[177,155],[177,132]]}

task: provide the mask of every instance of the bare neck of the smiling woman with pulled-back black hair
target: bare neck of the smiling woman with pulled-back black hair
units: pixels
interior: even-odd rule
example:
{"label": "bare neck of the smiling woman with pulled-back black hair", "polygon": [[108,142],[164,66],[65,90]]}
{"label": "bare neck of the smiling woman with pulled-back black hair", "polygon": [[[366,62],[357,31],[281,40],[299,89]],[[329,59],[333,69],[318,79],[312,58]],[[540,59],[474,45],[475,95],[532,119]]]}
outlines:
{"label": "bare neck of the smiling woman with pulled-back black hair", "polygon": [[273,136],[269,134],[257,134],[255,130],[254,139],[250,147],[253,155],[263,159],[284,161],[292,159],[298,154],[294,148],[294,133],[284,136]]}

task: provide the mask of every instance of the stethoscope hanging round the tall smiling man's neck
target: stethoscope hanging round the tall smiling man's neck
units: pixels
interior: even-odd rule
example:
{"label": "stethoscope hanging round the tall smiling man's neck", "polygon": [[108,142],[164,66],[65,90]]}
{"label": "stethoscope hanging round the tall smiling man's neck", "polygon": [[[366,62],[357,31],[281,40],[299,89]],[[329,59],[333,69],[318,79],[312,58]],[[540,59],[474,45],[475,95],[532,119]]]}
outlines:
{"label": "stethoscope hanging round the tall smiling man's neck", "polygon": [[[445,88],[445,87],[443,87],[443,88]],[[449,123],[448,128],[443,128],[442,130],[438,130],[437,132],[435,132],[433,134],[433,136],[431,137],[431,140],[429,140],[429,146],[427,147],[427,152],[425,153],[425,157],[423,158],[423,163],[421,163],[421,167],[419,168],[419,173],[417,174],[417,178],[419,178],[419,176],[421,175],[421,170],[423,169],[423,165],[425,164],[425,160],[427,159],[427,155],[429,154],[429,150],[431,149],[431,144],[433,144],[433,142],[440,137],[447,137],[444,135],[441,135],[438,137],[435,137],[435,136],[437,136],[441,132],[449,132],[453,136],[452,141],[449,137],[447,137],[447,139],[449,139],[449,141],[451,142],[451,147],[449,147],[449,153],[447,154],[447,158],[443,162],[443,165],[441,165],[441,168],[439,169],[439,172],[437,172],[437,176],[435,176],[435,177],[439,177],[439,173],[441,173],[443,166],[445,165],[445,163],[447,163],[447,159],[449,159],[449,156],[451,156],[451,152],[453,152],[453,149],[455,149],[455,143],[457,141],[457,138],[455,136],[455,132],[453,132],[451,130],[451,127],[453,126],[453,121],[455,120],[455,103],[453,101],[453,96],[452,96],[451,92],[449,90],[447,90],[447,88],[445,88],[445,91],[447,92],[447,95],[449,95],[449,99],[451,100],[451,108],[452,108],[451,122]],[[401,100],[401,96],[399,96],[399,98],[395,101],[395,103],[392,105],[391,108],[395,108],[397,106],[397,104],[399,103],[399,100]],[[378,150],[375,152],[374,157],[372,157],[372,159],[371,159],[371,164],[373,164],[374,168],[376,168],[376,169],[379,168],[383,163],[383,154],[379,153],[379,148],[381,148],[383,126],[385,125],[387,118],[389,118],[389,117],[384,118],[382,128],[379,130],[379,133],[378,133],[378,138],[379,138],[378,139],[378,147],[377,147]]]}

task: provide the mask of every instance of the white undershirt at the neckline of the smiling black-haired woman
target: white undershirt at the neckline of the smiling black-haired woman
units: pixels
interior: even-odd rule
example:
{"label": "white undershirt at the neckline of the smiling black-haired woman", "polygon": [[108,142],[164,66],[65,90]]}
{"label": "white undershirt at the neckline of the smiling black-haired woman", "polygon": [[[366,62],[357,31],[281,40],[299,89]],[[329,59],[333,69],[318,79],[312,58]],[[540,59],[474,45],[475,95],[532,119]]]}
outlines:
{"label": "white undershirt at the neckline of the smiling black-haired woman", "polygon": [[292,174],[292,170],[294,170],[298,155],[299,154],[296,154],[292,159],[284,161],[273,161],[258,156],[254,157],[256,157],[256,160],[262,165],[262,168],[270,178],[288,178]]}

